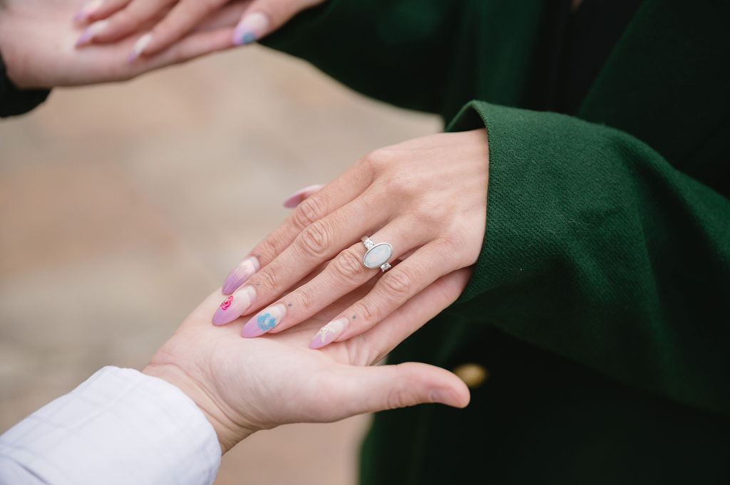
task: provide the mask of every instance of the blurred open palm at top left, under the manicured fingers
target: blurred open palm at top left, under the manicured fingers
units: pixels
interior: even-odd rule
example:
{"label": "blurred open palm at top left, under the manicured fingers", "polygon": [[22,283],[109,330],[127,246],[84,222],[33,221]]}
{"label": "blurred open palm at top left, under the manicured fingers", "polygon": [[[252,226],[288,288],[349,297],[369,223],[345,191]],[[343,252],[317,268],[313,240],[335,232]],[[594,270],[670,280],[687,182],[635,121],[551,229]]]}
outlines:
{"label": "blurred open palm at top left, under the manicured fingers", "polygon": [[241,2],[234,2],[173,47],[128,63],[134,39],[83,51],[74,48],[80,30],[69,18],[79,6],[69,0],[0,0],[0,53],[15,85],[52,88],[120,81],[225,49],[231,45],[234,25],[243,10]]}

